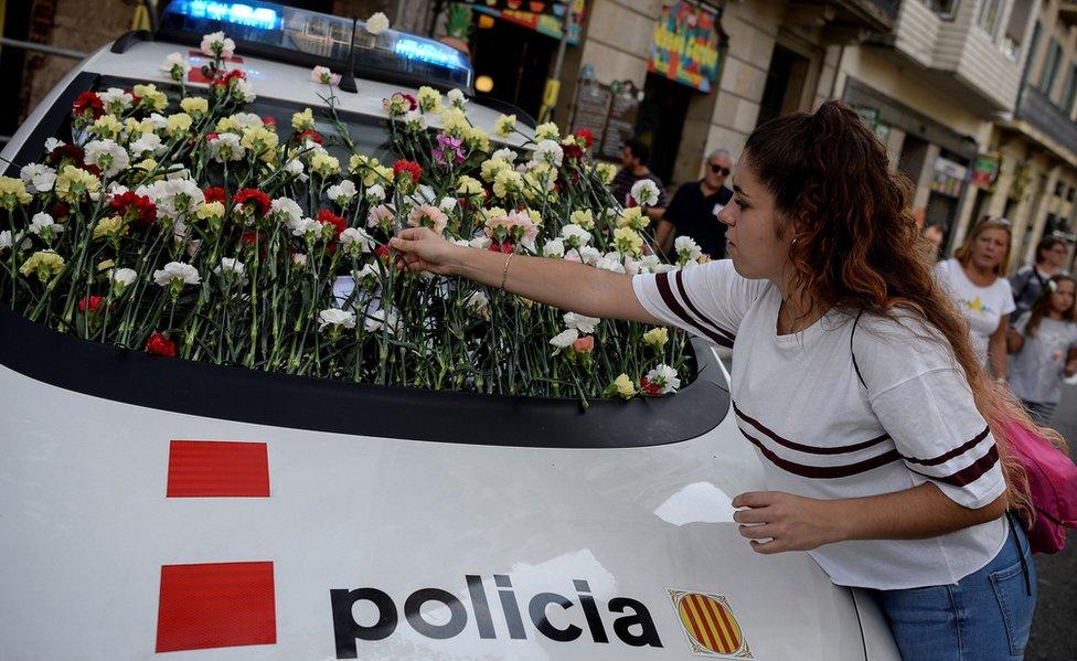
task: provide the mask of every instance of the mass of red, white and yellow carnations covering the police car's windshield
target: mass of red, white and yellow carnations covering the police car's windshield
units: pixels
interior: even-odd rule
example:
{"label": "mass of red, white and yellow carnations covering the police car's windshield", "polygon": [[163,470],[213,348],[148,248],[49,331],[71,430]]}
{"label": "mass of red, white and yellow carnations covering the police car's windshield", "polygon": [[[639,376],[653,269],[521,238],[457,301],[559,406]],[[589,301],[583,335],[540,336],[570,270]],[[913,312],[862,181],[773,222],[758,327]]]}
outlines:
{"label": "mass of red, white and yellow carnations covering the police car's windshield", "polygon": [[[286,122],[245,111],[255,92],[206,35],[202,89],[181,54],[168,81],[86,92],[39,162],[0,178],[0,300],[86,340],[162,356],[431,390],[629,398],[675,392],[686,339],[556,310],[500,289],[399,268],[387,247],[426,226],[476,249],[638,274],[646,182],[620,209],[586,130],[497,138],[459,90],[384,100],[393,162],[360,153],[337,78],[324,107]],[[282,126],[284,124],[284,126]],[[680,242],[680,266],[700,259]]]}

